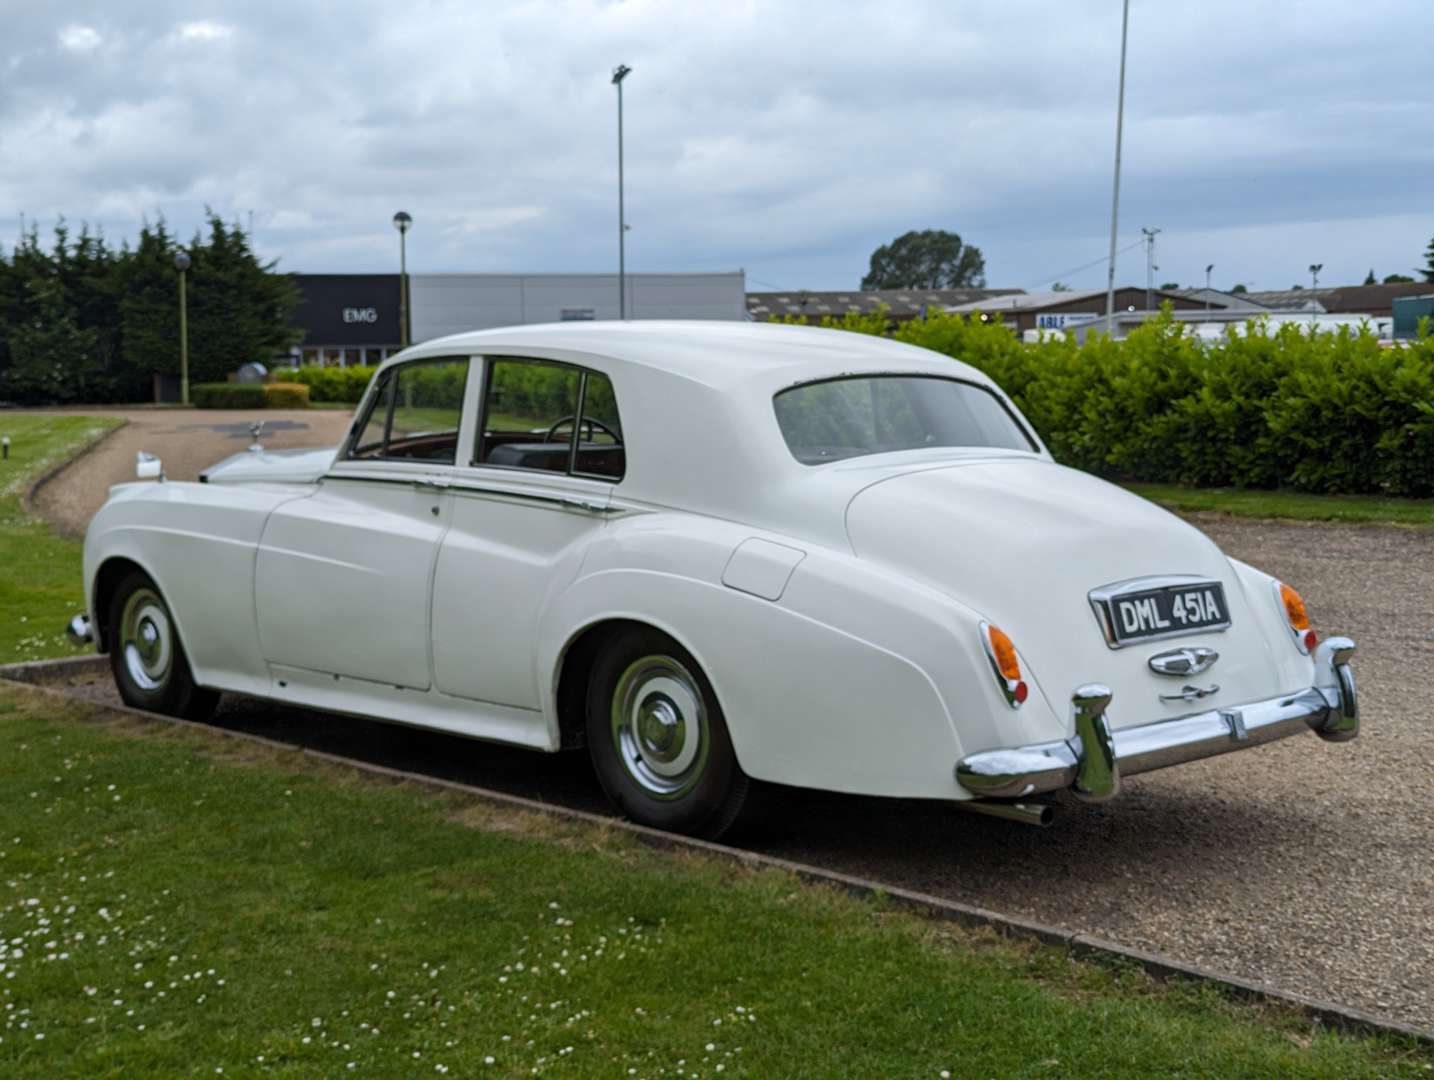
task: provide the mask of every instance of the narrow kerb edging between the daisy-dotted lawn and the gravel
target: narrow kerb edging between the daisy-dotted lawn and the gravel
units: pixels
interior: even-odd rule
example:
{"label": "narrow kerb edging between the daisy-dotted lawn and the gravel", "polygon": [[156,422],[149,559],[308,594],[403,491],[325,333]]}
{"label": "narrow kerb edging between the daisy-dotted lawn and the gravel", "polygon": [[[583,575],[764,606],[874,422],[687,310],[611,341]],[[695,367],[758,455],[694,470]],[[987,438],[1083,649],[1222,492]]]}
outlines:
{"label": "narrow kerb edging between the daisy-dotted lawn and the gravel", "polygon": [[1283,990],[1275,990],[1262,982],[1250,982],[1248,980],[1236,978],[1233,975],[1226,975],[1217,971],[1210,971],[1207,968],[1196,967],[1193,964],[1182,964],[1170,957],[1162,957],[1153,952],[1143,952],[1140,949],[1129,948],[1126,945],[1119,945],[1113,941],[1106,941],[1103,938],[1091,937],[1088,934],[1080,934],[1076,931],[1063,929],[1060,927],[1050,927],[1041,922],[1034,922],[1030,919],[1022,919],[1014,915],[1002,915],[997,911],[989,911],[987,908],[977,908],[968,904],[958,904],[956,901],[942,899],[941,896],[931,896],[923,892],[915,892],[912,889],[902,889],[891,885],[882,885],[876,881],[869,881],[866,878],[856,878],[849,873],[840,873],[837,871],[822,869],[820,866],[810,866],[807,863],[790,862],[789,859],[779,859],[771,855],[761,855],[757,852],[743,851],[741,848],[728,848],[723,843],[713,843],[711,840],[698,840],[690,836],[678,836],[675,833],[661,832],[658,829],[648,829],[642,825],[634,825],[632,822],[625,822],[621,818],[607,818],[599,813],[591,813],[589,810],[576,810],[566,806],[555,806],[552,803],[539,802],[536,799],[525,799],[521,795],[508,795],[506,792],[495,792],[486,787],[476,787],[473,785],[459,783],[456,780],[443,780],[436,776],[424,776],[423,773],[412,773],[403,769],[390,769],[383,764],[373,764],[370,762],[354,760],[353,757],[344,757],[341,754],[331,754],[324,750],[311,750],[308,747],[297,746],[294,743],[281,743],[275,739],[265,739],[264,736],[250,734],[248,731],[231,731],[224,727],[214,727],[211,724],[201,724],[192,720],[179,720],[169,716],[159,716],[158,713],[145,713],[139,709],[130,709],[128,706],[113,706],[99,701],[90,701],[85,697],[77,697],[75,694],[66,693],[56,683],[63,683],[66,677],[75,677],[80,674],[95,674],[99,670],[108,668],[106,657],[73,657],[65,660],[44,660],[34,661],[29,664],[9,664],[0,667],[0,686],[11,686],[23,688],[32,693],[44,694],[62,698],[65,701],[79,701],[93,711],[105,716],[113,717],[129,717],[135,720],[142,720],[146,723],[165,723],[175,727],[189,727],[198,731],[204,731],[206,736],[221,736],[224,739],[238,739],[247,743],[257,743],[260,746],[267,746],[275,750],[284,750],[288,753],[300,753],[305,757],[311,757],[318,762],[327,762],[330,764],[340,764],[346,769],[353,769],[356,772],[367,773],[370,776],[379,776],[396,783],[412,783],[420,787],[429,787],[435,790],[447,790],[466,795],[472,799],[479,799],[486,803],[496,806],[506,806],[512,809],[529,810],[533,813],[548,815],[551,818],[562,818],[565,820],[584,822],[587,825],[594,825],[602,829],[615,829],[628,833],[634,839],[645,843],[650,848],[660,851],[690,851],[701,852],[704,855],[711,855],[721,859],[728,859],[731,862],[741,863],[743,866],[759,868],[759,869],[774,869],[792,873],[804,882],[815,885],[826,885],[830,888],[842,889],[843,892],[852,894],[855,896],[862,896],[866,899],[882,898],[888,904],[903,908],[906,911],[926,915],[929,918],[936,918],[948,922],[955,922],[962,927],[971,928],[985,928],[994,929],[1002,937],[1022,939],[1022,941],[1040,941],[1045,945],[1053,945],[1057,948],[1064,948],[1071,957],[1086,961],[1094,961],[1100,964],[1116,964],[1116,965],[1133,965],[1144,971],[1152,978],[1157,980],[1189,980],[1195,982],[1206,982],[1220,987],[1225,993],[1235,998],[1253,1001],[1253,1003],[1269,1003],[1285,1005],[1292,1008],[1309,1020],[1314,1020],[1325,1027],[1331,1027],[1339,1031],[1349,1031],[1355,1034],[1380,1034],[1392,1036],[1397,1038],[1410,1038],[1425,1046],[1434,1046],[1434,1031],[1414,1027],[1412,1024],[1404,1024],[1397,1020],[1387,1020],[1384,1017],[1377,1017],[1369,1013],[1364,1013],[1355,1008],[1348,1008],[1345,1005],[1336,1005],[1329,1001],[1319,1001],[1316,998],[1309,998],[1302,994],[1292,994]]}

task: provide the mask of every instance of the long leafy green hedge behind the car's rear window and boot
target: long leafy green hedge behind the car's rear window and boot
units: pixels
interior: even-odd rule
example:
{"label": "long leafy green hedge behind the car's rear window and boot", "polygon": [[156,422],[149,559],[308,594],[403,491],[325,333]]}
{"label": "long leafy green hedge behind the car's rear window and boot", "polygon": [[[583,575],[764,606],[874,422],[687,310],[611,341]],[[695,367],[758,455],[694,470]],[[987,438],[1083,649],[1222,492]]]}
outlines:
{"label": "long leafy green hedge behind the car's rear window and boot", "polygon": [[[823,326],[889,331],[883,314]],[[981,369],[1058,460],[1111,479],[1434,496],[1434,337],[1184,330],[1164,313],[1119,343],[1022,344],[999,320],[932,314],[892,336]]]}

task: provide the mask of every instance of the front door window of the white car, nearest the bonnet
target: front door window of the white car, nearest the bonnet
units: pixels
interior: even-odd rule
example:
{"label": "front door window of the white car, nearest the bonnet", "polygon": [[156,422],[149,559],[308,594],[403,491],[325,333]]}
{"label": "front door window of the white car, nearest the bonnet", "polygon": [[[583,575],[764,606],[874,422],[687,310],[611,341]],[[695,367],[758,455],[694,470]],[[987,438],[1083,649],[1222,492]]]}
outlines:
{"label": "front door window of the white car, nearest the bonnet", "polygon": [[453,465],[467,367],[455,357],[386,371],[348,456]]}

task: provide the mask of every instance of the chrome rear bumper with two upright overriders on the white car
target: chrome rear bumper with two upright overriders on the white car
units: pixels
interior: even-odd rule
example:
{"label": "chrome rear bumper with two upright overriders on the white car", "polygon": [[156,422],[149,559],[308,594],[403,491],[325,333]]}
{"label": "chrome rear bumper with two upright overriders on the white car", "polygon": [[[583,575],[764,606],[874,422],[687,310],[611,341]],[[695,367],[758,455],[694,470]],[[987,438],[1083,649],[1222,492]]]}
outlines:
{"label": "chrome rear bumper with two upright overriders on the white car", "polygon": [[1206,713],[1110,729],[1110,690],[1087,684],[1071,694],[1074,734],[1051,743],[981,750],[956,762],[956,780],[982,799],[1022,799],[1070,789],[1090,802],[1110,799],[1120,777],[1213,757],[1312,730],[1342,743],[1359,733],[1359,703],[1349,658],[1354,641],[1332,637],[1315,651],[1315,686],[1293,694]]}

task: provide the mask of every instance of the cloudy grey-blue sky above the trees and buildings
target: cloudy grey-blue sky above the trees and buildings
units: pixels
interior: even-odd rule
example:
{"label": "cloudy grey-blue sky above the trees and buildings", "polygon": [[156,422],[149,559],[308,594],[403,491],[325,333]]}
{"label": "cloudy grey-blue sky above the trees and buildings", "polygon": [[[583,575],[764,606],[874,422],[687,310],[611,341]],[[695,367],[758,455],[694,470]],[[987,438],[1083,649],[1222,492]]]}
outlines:
{"label": "cloudy grey-blue sky above the trees and buildings", "polygon": [[[1133,0],[1120,247],[1157,281],[1411,273],[1430,0]],[[303,271],[630,270],[850,288],[911,228],[992,285],[1104,284],[1120,0],[0,0],[0,244],[209,205]],[[9,217],[9,222],[6,221]],[[1077,270],[1077,267],[1086,268]],[[1119,277],[1144,281],[1144,257]]]}

